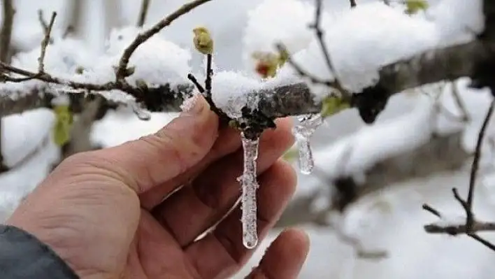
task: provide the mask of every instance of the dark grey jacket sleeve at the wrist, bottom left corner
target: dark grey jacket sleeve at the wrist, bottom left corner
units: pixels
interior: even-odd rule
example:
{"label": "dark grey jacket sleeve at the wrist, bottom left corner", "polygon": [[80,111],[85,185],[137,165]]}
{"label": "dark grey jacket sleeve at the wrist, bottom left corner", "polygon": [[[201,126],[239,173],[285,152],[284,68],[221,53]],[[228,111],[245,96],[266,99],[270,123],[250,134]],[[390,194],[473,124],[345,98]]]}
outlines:
{"label": "dark grey jacket sleeve at the wrist, bottom left corner", "polygon": [[48,245],[17,227],[0,224],[1,279],[69,279],[76,273]]}

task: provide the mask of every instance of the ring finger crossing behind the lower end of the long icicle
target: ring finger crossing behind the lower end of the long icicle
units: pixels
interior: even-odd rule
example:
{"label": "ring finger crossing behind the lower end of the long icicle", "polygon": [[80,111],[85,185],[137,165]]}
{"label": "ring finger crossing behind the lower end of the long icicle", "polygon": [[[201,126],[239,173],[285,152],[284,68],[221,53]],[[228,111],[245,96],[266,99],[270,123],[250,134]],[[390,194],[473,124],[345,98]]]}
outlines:
{"label": "ring finger crossing behind the lower end of the long icicle", "polygon": [[[282,161],[274,164],[259,179],[257,192],[258,235],[261,241],[278,220],[296,189],[296,173]],[[186,250],[203,278],[228,277],[247,262],[254,250],[243,246],[241,208],[238,206],[207,236]]]}

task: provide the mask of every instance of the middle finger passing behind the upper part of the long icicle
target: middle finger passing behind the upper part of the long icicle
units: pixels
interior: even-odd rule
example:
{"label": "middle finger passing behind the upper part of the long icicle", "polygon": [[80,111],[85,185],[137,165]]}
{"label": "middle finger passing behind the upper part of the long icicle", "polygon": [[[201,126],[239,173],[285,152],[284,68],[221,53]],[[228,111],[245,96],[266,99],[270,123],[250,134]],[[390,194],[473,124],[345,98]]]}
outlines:
{"label": "middle finger passing behind the upper part of the long icicle", "polygon": [[[292,146],[292,121],[279,122],[278,128],[266,131],[260,139],[257,172],[266,171]],[[192,186],[184,187],[153,210],[180,245],[189,245],[227,213],[241,193],[236,180],[243,168],[243,151],[224,157],[206,169]]]}

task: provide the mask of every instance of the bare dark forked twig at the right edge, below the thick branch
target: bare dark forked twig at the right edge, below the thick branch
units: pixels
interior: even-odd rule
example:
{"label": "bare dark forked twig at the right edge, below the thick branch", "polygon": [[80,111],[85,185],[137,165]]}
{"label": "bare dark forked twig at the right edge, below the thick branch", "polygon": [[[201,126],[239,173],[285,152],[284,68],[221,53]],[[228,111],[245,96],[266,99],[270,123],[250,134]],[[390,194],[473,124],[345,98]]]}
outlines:
{"label": "bare dark forked twig at the right edge, below the thick branch", "polygon": [[[443,232],[445,234],[450,234],[450,235],[467,234],[471,238],[475,239],[476,241],[479,241],[483,245],[495,251],[495,245],[485,241],[484,239],[480,238],[480,236],[477,235],[477,231],[495,230],[495,224],[477,221],[475,219],[475,214],[473,213],[473,198],[475,192],[476,178],[478,176],[480,157],[482,155],[481,148],[482,148],[483,139],[485,138],[485,132],[487,130],[489,121],[492,119],[492,115],[494,113],[494,108],[495,108],[495,100],[493,100],[492,103],[490,104],[490,107],[487,111],[487,115],[485,116],[485,120],[483,121],[482,127],[480,129],[480,133],[478,134],[478,141],[476,143],[475,155],[473,159],[473,164],[471,166],[467,199],[463,199],[459,195],[457,188],[452,189],[454,198],[461,204],[462,208],[464,208],[464,211],[466,212],[465,224],[445,224],[444,226],[439,224],[427,224],[426,226],[424,226],[424,229],[430,233]],[[440,213],[440,211],[429,206],[428,204],[424,204],[423,209],[429,211],[429,213],[432,213],[437,217],[441,218],[443,216],[442,213]]]}

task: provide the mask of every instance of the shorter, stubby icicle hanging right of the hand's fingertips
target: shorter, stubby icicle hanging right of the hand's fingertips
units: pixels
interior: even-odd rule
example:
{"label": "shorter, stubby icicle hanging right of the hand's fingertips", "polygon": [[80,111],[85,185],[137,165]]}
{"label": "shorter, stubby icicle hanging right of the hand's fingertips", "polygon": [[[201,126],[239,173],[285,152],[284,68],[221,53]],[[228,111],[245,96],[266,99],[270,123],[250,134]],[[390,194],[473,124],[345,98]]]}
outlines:
{"label": "shorter, stubby icicle hanging right of the hand's fingertips", "polygon": [[303,115],[298,117],[301,124],[292,129],[299,148],[299,169],[303,174],[313,171],[315,162],[310,147],[310,138],[318,127],[323,123],[322,115]]}

